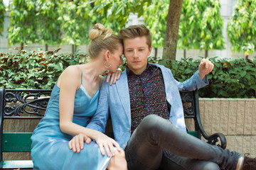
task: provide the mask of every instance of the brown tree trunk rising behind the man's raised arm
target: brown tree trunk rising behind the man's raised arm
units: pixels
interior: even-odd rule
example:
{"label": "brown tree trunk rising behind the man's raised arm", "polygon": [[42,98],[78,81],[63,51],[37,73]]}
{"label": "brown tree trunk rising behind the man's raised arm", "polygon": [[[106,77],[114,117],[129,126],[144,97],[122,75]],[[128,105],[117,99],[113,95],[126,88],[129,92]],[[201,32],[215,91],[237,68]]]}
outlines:
{"label": "brown tree trunk rising behind the man's raised arm", "polygon": [[183,0],[170,0],[164,38],[163,59],[176,60],[178,26],[181,18]]}

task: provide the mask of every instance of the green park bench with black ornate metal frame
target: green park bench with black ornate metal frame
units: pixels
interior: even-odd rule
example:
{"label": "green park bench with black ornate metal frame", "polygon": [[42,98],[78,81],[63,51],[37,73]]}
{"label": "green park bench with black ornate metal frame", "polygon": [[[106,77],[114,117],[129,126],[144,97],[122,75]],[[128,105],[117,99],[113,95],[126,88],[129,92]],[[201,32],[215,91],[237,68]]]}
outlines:
{"label": "green park bench with black ornate metal frame", "polygon": [[[4,160],[3,153],[27,152],[30,154],[31,135],[39,120],[43,118],[50,92],[51,90],[45,89],[0,89],[0,169],[33,169],[31,160]],[[203,130],[198,91],[180,91],[180,94],[185,118],[194,123],[194,130],[188,130],[188,133],[199,139],[203,137],[201,140],[205,140],[210,145],[218,145],[225,149],[226,140],[222,133],[207,135]],[[19,125],[29,129],[28,132],[15,132],[12,127],[10,128],[11,121],[14,125],[15,121],[19,121]],[[111,120],[107,123],[106,134],[112,136]]]}

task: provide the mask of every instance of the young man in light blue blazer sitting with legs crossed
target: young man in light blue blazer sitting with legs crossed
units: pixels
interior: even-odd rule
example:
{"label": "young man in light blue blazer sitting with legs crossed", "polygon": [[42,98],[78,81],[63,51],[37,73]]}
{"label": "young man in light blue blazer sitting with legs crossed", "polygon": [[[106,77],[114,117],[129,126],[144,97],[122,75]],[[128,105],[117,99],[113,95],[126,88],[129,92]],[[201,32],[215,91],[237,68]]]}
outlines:
{"label": "young man in light blue blazer sitting with legs crossed", "polygon": [[119,35],[127,69],[116,84],[102,84],[97,112],[87,128],[104,132],[110,112],[114,138],[124,149],[128,169],[241,169],[238,152],[186,133],[178,91],[206,86],[213,63],[203,59],[198,71],[181,83],[170,69],[147,62],[152,47],[146,26],[129,26]]}

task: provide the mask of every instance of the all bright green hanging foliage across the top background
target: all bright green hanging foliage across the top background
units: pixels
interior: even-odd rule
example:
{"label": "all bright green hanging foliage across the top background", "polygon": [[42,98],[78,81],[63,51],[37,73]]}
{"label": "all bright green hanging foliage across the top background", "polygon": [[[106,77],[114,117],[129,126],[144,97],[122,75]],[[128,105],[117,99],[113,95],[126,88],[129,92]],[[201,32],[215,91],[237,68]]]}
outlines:
{"label": "all bright green hanging foliage across the top background", "polygon": [[[0,0],[0,34],[3,15]],[[181,1],[181,0],[178,0]],[[9,25],[9,45],[40,43],[46,45],[85,45],[88,33],[95,23],[104,23],[114,33],[124,28],[129,14],[144,17],[144,23],[153,35],[153,47],[163,47],[166,34],[166,18],[171,1],[151,0],[13,0],[10,4],[11,23]],[[174,4],[172,4],[174,5]],[[235,52],[247,54],[255,51],[256,1],[237,0],[227,33]],[[220,0],[183,1],[178,30],[178,48],[222,50],[223,18],[220,16]],[[172,36],[174,37],[174,36]],[[167,38],[168,39],[168,38]],[[176,40],[176,39],[175,39]],[[175,48],[176,50],[176,48]],[[164,49],[164,51],[166,51]],[[172,50],[174,51],[174,50]],[[164,52],[163,52],[164,54]],[[167,57],[166,57],[167,58]],[[173,54],[169,58],[175,59]]]}

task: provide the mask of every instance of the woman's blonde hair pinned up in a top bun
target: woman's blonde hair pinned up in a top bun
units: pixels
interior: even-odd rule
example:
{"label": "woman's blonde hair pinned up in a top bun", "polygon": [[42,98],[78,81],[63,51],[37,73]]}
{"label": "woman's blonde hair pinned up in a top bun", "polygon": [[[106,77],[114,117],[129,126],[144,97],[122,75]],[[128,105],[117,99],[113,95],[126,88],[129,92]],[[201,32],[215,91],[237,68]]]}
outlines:
{"label": "woman's blonde hair pinned up in a top bun", "polygon": [[114,35],[110,28],[105,28],[101,23],[96,23],[89,33],[90,43],[88,45],[88,54],[90,58],[95,58],[102,50],[118,49],[118,45],[122,45],[122,40],[117,35]]}

